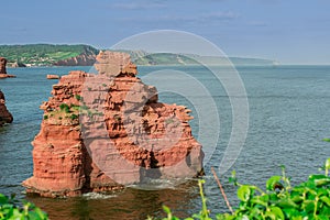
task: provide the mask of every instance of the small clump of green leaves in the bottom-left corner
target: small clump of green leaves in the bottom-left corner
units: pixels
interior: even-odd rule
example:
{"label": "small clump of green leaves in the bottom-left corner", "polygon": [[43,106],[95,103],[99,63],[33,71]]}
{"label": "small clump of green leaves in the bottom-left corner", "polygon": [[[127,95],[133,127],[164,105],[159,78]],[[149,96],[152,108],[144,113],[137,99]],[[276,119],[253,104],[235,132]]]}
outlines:
{"label": "small clump of green leaves in the bottom-left corner", "polygon": [[47,220],[48,217],[40,208],[35,207],[31,202],[23,202],[20,207],[16,205],[14,196],[8,198],[0,194],[0,220]]}

